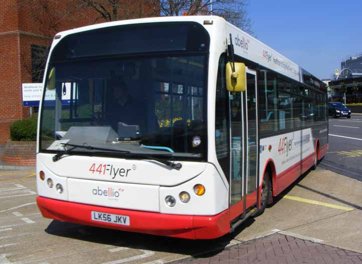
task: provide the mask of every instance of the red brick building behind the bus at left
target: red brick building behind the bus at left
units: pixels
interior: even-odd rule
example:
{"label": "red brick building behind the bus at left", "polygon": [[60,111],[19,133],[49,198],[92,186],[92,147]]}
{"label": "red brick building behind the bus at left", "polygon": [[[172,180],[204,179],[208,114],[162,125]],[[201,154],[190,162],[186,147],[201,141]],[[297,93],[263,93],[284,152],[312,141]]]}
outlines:
{"label": "red brick building behind the bus at left", "polygon": [[[51,45],[53,36],[60,31],[104,22],[94,10],[74,6],[76,2],[1,1],[0,144],[5,144],[10,138],[9,126],[12,122],[30,115],[29,107],[23,107],[22,83],[42,82],[46,50]],[[123,18],[144,17],[147,9],[141,2],[124,1],[123,6],[128,8],[123,9],[123,12],[127,12],[123,14]]]}

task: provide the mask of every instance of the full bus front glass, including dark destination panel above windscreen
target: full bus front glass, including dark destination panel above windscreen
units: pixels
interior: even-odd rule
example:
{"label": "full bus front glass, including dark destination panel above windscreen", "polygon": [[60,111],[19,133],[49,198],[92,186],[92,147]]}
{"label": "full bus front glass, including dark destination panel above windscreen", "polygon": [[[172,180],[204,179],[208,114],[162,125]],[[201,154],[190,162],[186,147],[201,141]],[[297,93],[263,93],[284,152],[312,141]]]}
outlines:
{"label": "full bus front glass, including dark destination panel above windscreen", "polygon": [[50,55],[41,151],[70,153],[73,144],[110,156],[205,159],[209,44],[197,23],[114,26],[64,37]]}

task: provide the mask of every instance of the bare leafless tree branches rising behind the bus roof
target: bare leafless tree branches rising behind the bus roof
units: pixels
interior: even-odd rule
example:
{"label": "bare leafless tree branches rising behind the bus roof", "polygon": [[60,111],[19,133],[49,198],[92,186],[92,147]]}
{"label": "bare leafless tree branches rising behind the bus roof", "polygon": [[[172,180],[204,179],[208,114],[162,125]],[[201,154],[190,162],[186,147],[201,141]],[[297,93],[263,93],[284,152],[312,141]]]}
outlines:
{"label": "bare leafless tree branches rising behind the bus roof", "polygon": [[216,15],[252,34],[245,0],[73,0],[74,10],[91,8],[95,22],[155,16]]}

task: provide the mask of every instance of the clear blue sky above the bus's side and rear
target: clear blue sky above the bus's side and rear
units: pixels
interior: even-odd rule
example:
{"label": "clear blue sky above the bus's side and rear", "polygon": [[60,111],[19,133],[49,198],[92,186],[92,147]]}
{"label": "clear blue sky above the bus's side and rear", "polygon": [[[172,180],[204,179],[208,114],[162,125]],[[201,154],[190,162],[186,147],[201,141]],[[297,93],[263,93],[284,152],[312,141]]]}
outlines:
{"label": "clear blue sky above the bus's side and rear", "polygon": [[362,52],[362,0],[248,0],[254,36],[320,79]]}

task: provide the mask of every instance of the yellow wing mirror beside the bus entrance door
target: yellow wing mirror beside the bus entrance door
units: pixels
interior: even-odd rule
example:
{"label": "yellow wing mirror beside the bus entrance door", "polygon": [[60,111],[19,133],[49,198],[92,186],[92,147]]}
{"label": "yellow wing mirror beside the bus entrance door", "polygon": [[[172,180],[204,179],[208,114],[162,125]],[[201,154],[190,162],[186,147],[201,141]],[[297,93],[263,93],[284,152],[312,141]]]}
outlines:
{"label": "yellow wing mirror beside the bus entrance door", "polygon": [[235,71],[231,62],[226,64],[226,89],[229,92],[244,92],[246,88],[246,71],[244,63],[235,63]]}

